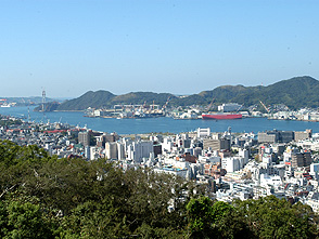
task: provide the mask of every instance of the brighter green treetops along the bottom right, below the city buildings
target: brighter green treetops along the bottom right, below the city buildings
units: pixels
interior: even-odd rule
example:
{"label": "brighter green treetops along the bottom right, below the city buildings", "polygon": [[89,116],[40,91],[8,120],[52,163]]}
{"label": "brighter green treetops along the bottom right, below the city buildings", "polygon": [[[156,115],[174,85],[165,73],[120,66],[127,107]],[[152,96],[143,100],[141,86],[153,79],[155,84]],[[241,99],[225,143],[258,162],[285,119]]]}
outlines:
{"label": "brighter green treetops along the bottom right, below the city buildings", "polygon": [[[191,238],[316,238],[317,216],[308,205],[275,196],[213,203],[206,197],[187,205]],[[316,221],[316,223],[315,223]]]}

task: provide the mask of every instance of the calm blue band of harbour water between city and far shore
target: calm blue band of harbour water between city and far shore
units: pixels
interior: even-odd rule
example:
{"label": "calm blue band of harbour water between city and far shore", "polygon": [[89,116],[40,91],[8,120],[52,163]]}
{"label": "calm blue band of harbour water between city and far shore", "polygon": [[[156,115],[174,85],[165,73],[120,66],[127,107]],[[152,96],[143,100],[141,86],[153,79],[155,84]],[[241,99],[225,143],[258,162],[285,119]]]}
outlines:
{"label": "calm blue band of harbour water between city and far shore", "polygon": [[[1,108],[1,115],[27,117],[28,107]],[[312,129],[319,132],[319,122],[268,120],[266,118],[246,118],[238,120],[175,120],[173,118],[150,119],[103,119],[84,117],[84,112],[35,112],[30,107],[30,119],[36,122],[62,122],[72,125],[87,127],[103,132],[118,134],[151,133],[151,132],[188,132],[197,128],[210,128],[213,132],[259,132],[265,130],[304,131]]]}

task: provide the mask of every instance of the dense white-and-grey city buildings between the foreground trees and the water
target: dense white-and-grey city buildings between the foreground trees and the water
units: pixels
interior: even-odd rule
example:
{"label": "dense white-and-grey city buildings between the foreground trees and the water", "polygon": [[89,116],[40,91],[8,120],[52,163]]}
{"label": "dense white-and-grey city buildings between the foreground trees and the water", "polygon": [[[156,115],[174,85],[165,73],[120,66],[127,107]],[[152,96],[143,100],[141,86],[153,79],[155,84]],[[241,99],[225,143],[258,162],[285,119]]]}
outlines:
{"label": "dense white-and-grey city buildings between the foreground trees and the water", "polygon": [[97,132],[63,123],[24,122],[2,116],[1,140],[37,145],[59,158],[106,158],[124,171],[149,168],[210,185],[212,199],[289,198],[319,210],[319,134],[305,130],[254,133],[136,134]]}

